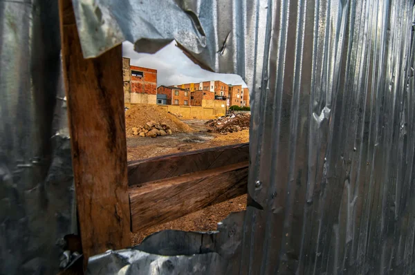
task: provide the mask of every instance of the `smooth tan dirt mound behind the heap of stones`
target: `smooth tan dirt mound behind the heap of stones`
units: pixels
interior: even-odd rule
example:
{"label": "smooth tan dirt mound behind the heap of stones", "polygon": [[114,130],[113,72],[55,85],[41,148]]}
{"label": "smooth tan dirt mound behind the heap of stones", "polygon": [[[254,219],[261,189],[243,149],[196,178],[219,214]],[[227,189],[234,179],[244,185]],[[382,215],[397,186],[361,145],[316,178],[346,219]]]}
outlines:
{"label": "smooth tan dirt mound behind the heap of stones", "polygon": [[173,133],[190,133],[192,128],[179,120],[175,115],[154,104],[136,104],[125,112],[125,131],[127,138],[133,138],[133,128],[142,128],[147,122],[166,124]]}

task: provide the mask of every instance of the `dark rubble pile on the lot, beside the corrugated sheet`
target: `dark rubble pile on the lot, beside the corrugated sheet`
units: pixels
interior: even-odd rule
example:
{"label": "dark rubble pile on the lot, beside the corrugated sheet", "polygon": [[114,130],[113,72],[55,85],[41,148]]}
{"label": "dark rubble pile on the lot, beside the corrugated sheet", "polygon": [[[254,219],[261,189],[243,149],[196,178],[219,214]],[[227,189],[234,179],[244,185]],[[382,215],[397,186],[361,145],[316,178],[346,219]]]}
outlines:
{"label": "dark rubble pile on the lot, beside the corrugated sheet", "polygon": [[212,127],[215,132],[226,134],[249,129],[249,122],[250,114],[237,113],[209,120],[205,124]]}

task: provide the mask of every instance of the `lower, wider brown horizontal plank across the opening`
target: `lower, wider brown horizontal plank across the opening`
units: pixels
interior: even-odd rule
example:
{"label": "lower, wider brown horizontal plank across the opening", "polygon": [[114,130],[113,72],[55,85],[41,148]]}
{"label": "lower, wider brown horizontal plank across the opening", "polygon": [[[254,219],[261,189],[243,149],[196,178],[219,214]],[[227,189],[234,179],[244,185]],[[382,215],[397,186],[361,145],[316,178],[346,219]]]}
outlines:
{"label": "lower, wider brown horizontal plank across the opening", "polygon": [[129,189],[132,231],[175,220],[247,192],[248,161]]}

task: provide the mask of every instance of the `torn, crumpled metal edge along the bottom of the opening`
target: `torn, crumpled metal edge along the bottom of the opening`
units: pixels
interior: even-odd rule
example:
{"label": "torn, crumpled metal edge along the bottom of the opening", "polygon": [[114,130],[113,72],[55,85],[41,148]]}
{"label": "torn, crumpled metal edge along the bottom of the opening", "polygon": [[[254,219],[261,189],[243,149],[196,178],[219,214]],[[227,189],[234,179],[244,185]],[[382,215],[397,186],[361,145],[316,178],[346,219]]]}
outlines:
{"label": "torn, crumpled metal edge along the bottom of the opening", "polygon": [[131,249],[89,258],[87,274],[232,274],[239,264],[245,212],[210,233],[166,230]]}

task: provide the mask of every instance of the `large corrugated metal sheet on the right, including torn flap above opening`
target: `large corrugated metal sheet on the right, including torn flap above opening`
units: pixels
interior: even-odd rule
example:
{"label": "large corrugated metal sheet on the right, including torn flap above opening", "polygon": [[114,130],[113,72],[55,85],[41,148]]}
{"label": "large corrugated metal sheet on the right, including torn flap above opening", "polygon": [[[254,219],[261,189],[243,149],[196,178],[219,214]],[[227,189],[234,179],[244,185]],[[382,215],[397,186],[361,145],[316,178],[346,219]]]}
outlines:
{"label": "large corrugated metal sheet on the right, including torn flap above opening", "polygon": [[415,272],[413,1],[164,2],[74,0],[82,46],[175,38],[246,80],[251,199],[233,273]]}

